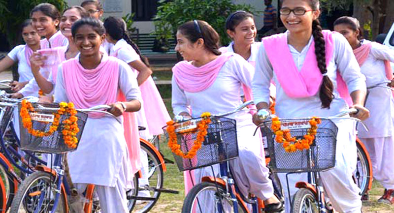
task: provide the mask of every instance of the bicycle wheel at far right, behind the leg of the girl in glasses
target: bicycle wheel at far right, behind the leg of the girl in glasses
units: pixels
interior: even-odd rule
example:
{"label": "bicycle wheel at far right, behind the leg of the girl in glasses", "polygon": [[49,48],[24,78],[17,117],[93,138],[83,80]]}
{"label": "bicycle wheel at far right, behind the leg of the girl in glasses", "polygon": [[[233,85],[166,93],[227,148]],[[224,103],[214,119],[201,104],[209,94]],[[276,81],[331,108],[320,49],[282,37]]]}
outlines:
{"label": "bicycle wheel at far right, behind the leg of the girl in glasses", "polygon": [[357,143],[357,167],[353,172],[356,184],[361,189],[360,195],[364,195],[368,191],[369,180],[372,179],[372,171],[370,170],[370,160],[368,160],[367,152]]}

